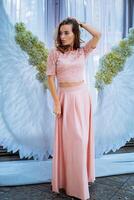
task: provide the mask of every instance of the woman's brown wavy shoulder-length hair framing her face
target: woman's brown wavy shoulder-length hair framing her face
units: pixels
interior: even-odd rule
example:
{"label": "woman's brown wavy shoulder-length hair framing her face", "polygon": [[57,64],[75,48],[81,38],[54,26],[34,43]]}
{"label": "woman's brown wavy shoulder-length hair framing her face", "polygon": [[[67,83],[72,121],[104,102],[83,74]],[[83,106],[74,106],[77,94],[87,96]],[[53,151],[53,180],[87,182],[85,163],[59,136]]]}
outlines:
{"label": "woman's brown wavy shoulder-length hair framing her face", "polygon": [[55,46],[56,48],[61,51],[62,53],[66,52],[70,45],[62,45],[61,39],[60,39],[60,28],[62,25],[66,24],[72,24],[72,32],[74,33],[74,45],[73,49],[76,50],[77,48],[80,48],[80,29],[78,22],[73,18],[66,18],[64,19],[58,26],[56,37],[55,37]]}

